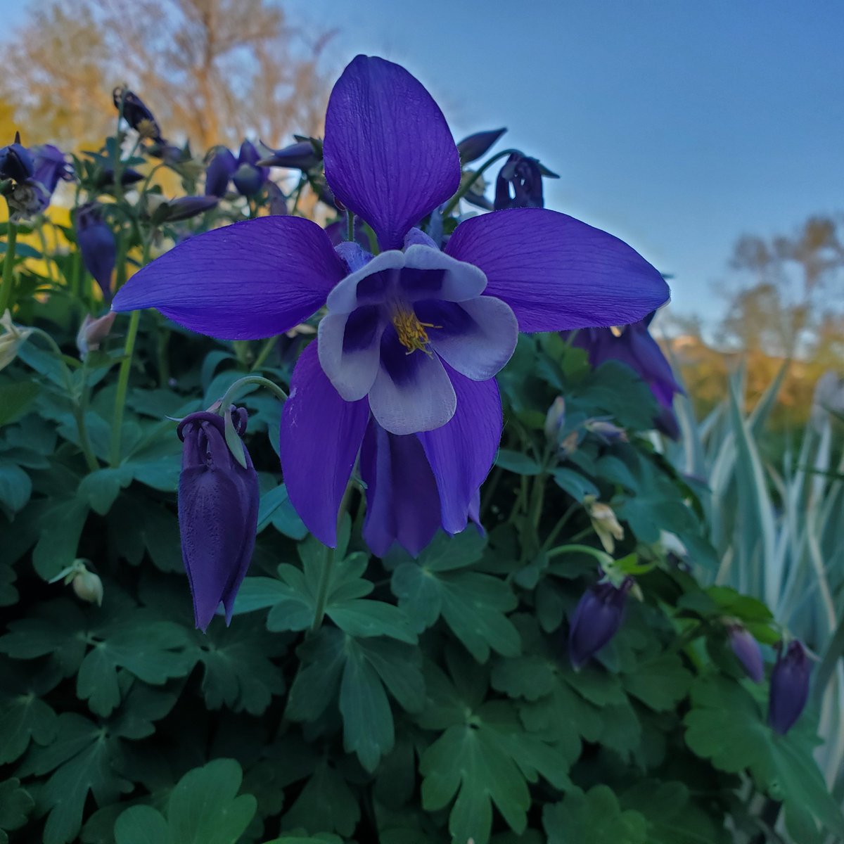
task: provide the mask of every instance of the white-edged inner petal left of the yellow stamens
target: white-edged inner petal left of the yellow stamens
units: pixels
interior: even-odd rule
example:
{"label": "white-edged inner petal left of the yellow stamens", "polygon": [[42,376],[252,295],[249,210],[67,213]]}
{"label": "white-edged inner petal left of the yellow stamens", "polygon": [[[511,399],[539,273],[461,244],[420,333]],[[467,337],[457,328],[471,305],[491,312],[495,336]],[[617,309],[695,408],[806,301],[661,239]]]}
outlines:
{"label": "white-edged inner petal left of the yellow stamens", "polygon": [[327,314],[318,329],[319,362],[337,392],[356,402],[370,391],[381,360],[384,323],[374,305]]}

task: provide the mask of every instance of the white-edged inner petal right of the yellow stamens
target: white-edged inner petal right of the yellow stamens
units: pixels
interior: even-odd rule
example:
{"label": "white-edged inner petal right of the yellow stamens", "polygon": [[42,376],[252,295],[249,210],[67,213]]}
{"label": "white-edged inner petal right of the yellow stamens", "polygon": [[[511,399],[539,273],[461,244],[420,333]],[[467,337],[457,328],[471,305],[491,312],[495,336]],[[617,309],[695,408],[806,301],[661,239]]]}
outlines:
{"label": "white-edged inner petal right of the yellow stamens", "polygon": [[417,302],[419,321],[430,323],[431,349],[473,381],[487,381],[510,360],[519,337],[516,315],[500,299]]}

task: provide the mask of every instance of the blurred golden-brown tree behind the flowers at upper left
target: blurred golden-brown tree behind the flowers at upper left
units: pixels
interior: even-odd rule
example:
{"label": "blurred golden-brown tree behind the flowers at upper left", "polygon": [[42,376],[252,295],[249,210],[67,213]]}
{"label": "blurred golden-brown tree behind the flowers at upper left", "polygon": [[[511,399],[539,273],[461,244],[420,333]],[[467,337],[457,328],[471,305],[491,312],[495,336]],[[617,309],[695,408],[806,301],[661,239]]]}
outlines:
{"label": "blurred golden-brown tree behind the flowers at upper left", "polygon": [[96,143],[127,83],[165,137],[194,149],[318,133],[331,33],[289,24],[268,0],[52,0],[35,8],[0,79],[29,143]]}

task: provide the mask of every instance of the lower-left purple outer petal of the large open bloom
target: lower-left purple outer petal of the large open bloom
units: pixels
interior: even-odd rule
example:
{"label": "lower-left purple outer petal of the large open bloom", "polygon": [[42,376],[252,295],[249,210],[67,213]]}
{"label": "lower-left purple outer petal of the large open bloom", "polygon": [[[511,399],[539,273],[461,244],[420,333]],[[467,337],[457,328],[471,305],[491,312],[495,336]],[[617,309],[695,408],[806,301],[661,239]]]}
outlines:
{"label": "lower-left purple outer petal of the large open bloom", "polygon": [[337,545],[337,513],[358,456],[369,406],[344,402],[322,371],[317,344],[296,362],[281,416],[279,457],[290,503],[323,544]]}

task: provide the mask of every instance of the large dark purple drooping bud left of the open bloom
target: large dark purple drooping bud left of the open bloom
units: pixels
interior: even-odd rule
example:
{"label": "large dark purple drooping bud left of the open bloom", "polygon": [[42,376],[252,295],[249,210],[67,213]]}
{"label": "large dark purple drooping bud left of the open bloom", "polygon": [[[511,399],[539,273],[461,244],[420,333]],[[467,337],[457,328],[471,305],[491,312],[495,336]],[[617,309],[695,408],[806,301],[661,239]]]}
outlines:
{"label": "large dark purple drooping bud left of the open bloom", "polygon": [[[246,410],[231,408],[239,437],[246,432]],[[185,446],[179,478],[181,555],[193,596],[197,627],[205,630],[220,602],[231,621],[237,590],[255,548],[258,478],[243,446],[246,466],[225,441],[218,414],[201,411],[181,420],[178,435]]]}

